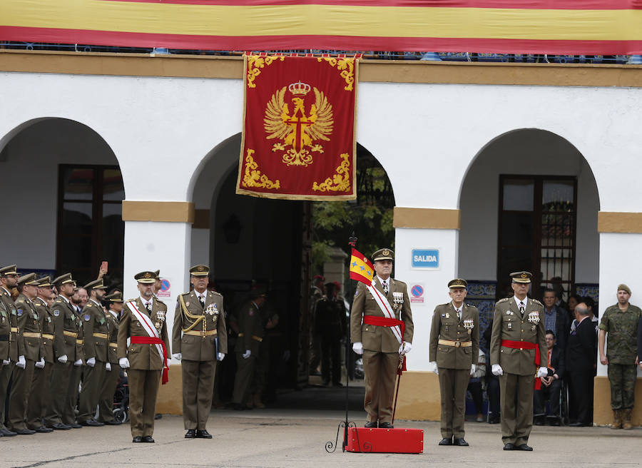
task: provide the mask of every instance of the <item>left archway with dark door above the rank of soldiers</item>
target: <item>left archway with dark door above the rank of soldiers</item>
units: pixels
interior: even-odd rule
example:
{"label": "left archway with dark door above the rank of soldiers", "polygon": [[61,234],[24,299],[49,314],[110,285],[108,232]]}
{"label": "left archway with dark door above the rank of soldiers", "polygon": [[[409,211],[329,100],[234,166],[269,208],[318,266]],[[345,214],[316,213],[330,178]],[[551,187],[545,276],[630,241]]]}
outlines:
{"label": "left archway with dark door above the rank of soldiers", "polygon": [[1,139],[0,165],[11,194],[3,210],[16,226],[3,234],[3,261],[42,275],[71,272],[80,284],[107,261],[110,285],[122,288],[125,190],[106,141],[83,123],[37,118]]}

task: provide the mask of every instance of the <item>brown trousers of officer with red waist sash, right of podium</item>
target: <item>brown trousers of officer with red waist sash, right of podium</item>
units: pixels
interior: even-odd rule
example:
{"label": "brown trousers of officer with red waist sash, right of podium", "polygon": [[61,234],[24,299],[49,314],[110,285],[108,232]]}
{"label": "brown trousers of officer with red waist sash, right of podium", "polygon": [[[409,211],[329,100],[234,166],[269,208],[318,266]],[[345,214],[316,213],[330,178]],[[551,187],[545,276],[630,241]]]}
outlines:
{"label": "brown trousers of officer with red waist sash, right of podium", "polygon": [[501,406],[501,440],[504,444],[521,445],[529,442],[533,428],[534,374],[499,376],[499,405]]}

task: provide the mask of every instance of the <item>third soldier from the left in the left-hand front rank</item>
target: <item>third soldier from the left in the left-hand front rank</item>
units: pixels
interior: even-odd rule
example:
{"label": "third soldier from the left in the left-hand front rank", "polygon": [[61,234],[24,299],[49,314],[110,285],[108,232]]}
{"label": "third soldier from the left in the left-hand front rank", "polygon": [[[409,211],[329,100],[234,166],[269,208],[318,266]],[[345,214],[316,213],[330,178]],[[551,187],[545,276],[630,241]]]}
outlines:
{"label": "third soldier from the left in the left-hand front rank", "polygon": [[27,406],[27,427],[36,432],[54,431],[43,424],[43,417],[51,405],[51,372],[54,370],[54,320],[49,309],[49,304],[54,299],[54,285],[49,283],[50,279],[46,276],[38,281],[38,297],[34,299],[45,360],[44,367],[36,367],[34,370],[34,383],[31,385]]}

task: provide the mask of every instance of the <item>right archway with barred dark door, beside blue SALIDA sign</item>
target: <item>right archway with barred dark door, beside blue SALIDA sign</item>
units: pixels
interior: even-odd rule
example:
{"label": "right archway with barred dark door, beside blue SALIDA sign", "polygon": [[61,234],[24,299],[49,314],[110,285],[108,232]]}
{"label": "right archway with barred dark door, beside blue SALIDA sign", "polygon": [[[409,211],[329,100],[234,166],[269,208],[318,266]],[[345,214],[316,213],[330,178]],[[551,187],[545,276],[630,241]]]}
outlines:
{"label": "right archway with barred dark door, beside blue SALIDA sign", "polygon": [[512,271],[534,273],[531,294],[549,285],[597,299],[599,198],[586,159],[565,138],[535,128],[492,139],[460,193],[458,270],[469,280],[482,331]]}

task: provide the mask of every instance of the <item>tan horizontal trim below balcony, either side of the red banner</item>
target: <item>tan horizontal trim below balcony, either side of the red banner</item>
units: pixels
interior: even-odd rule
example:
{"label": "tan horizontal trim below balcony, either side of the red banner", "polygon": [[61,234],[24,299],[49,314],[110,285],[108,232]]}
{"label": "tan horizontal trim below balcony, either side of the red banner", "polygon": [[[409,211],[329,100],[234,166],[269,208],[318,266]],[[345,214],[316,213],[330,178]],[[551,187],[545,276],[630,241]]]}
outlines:
{"label": "tan horizontal trim below balcony, either side of the red banner", "polygon": [[[243,79],[243,57],[0,49],[0,71]],[[454,83],[642,88],[641,65],[363,60],[361,83]]]}

